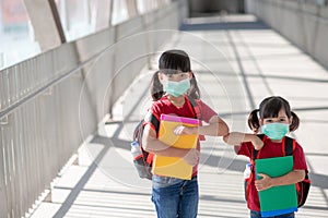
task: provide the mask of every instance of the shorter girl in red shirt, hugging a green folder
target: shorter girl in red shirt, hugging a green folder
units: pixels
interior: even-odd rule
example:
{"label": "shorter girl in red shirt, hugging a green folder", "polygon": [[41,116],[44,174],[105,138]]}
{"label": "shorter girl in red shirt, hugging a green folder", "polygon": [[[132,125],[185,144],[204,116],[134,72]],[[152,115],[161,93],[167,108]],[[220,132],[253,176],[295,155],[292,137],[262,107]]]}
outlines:
{"label": "shorter girl in red shirt, hugging a green folder", "polygon": [[[263,142],[255,134],[232,132],[223,137],[224,142],[235,145],[235,152],[251,158],[251,150],[260,149],[260,158],[282,157],[282,138],[289,131],[298,128],[298,117],[291,111],[290,104],[282,97],[272,96],[263,99],[259,109],[253,110],[248,118],[248,125],[254,132],[260,131],[265,134]],[[258,192],[276,185],[286,185],[304,180],[307,171],[303,148],[296,142],[293,150],[293,171],[278,178],[270,178],[259,173],[260,180],[250,181],[247,196],[247,206],[250,209],[251,218],[259,218],[260,205]],[[251,172],[254,173],[254,171]],[[253,177],[255,175],[253,174]],[[279,218],[294,217],[294,213],[276,216]]]}

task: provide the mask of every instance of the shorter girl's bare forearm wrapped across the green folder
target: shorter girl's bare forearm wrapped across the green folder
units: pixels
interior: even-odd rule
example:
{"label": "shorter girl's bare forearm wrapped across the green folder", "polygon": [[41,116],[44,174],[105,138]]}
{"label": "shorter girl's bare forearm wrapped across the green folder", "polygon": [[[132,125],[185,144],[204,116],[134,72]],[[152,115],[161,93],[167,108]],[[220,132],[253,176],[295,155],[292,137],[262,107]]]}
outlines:
{"label": "shorter girl's bare forearm wrapped across the green folder", "polygon": [[305,170],[293,170],[282,177],[270,178],[267,174],[258,173],[262,177],[260,180],[255,181],[255,186],[257,191],[263,191],[272,186],[294,184],[301,182],[305,178]]}

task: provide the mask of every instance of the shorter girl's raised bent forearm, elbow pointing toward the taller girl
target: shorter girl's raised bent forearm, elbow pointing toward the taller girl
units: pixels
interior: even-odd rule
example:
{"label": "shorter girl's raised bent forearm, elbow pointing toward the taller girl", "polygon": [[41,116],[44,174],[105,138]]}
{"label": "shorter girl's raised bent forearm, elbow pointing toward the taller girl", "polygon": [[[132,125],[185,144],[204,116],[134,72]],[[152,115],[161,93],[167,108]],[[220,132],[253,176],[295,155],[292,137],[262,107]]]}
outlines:
{"label": "shorter girl's raised bent forearm, elbow pointing toward the taller girl", "polygon": [[255,149],[263,147],[263,142],[256,135],[249,133],[231,132],[223,136],[223,141],[229,145],[241,145],[241,143],[250,142]]}

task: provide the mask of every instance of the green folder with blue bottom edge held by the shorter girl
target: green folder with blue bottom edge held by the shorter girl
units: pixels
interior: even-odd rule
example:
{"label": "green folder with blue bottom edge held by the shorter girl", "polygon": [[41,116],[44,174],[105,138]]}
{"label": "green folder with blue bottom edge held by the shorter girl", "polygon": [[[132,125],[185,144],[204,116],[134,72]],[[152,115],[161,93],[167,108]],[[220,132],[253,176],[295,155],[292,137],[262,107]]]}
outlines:
{"label": "green folder with blue bottom edge held by the shorter girl", "polygon": [[[256,159],[256,178],[258,173],[271,178],[281,177],[293,170],[293,156]],[[273,186],[258,192],[262,217],[271,217],[297,211],[297,195],[295,184]]]}

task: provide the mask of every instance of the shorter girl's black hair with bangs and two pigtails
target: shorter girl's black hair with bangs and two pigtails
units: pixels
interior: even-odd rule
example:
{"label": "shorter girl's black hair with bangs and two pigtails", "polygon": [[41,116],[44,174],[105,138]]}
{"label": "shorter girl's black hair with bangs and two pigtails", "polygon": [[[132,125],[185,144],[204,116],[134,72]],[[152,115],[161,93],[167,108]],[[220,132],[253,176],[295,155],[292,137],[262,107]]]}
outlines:
{"label": "shorter girl's black hair with bangs and two pigtails", "polygon": [[260,128],[259,119],[266,118],[277,118],[281,109],[284,109],[285,114],[290,119],[293,117],[292,123],[290,125],[290,131],[294,131],[300,125],[300,118],[291,110],[289,101],[280,96],[271,96],[265,98],[260,105],[259,109],[255,109],[250,112],[248,117],[248,126],[250,130],[258,130]]}

